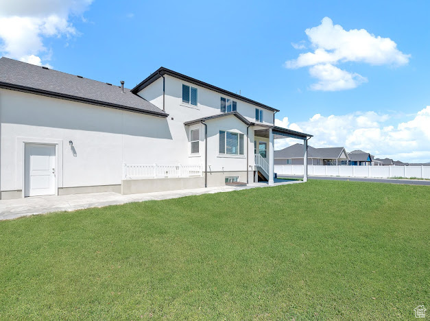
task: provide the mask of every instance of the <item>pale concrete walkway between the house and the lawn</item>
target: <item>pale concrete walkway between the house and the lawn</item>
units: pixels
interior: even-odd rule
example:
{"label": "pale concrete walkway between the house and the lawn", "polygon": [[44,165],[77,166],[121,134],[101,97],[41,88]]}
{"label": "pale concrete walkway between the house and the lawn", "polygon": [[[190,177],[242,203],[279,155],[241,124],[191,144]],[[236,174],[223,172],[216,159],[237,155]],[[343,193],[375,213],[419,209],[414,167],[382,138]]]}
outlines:
{"label": "pale concrete walkway between the house and the lawn", "polygon": [[[296,184],[299,180],[276,180],[275,186]],[[208,187],[207,189],[183,189],[180,191],[164,191],[156,193],[121,195],[118,193],[87,193],[62,196],[38,196],[33,198],[19,198],[16,200],[0,200],[0,220],[14,219],[21,216],[51,213],[59,211],[75,211],[108,205],[126,204],[130,202],[144,202],[147,200],[168,200],[190,195],[206,193],[221,193],[252,189],[255,187],[269,187],[267,183],[252,183],[246,187]]]}

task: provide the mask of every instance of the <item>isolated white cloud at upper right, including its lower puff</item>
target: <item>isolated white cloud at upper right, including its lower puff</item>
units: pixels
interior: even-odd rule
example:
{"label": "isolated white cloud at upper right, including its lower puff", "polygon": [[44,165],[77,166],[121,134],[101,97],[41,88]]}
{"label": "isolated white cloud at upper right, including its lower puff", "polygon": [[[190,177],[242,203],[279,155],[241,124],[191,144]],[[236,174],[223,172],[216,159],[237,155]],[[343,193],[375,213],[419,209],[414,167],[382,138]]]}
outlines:
{"label": "isolated white cloud at upper right, including its lower puff", "polygon": [[[285,67],[289,69],[311,67],[309,69],[311,75],[320,80],[311,86],[313,90],[339,91],[355,88],[367,81],[358,73],[348,73],[334,67],[333,64],[364,62],[372,65],[401,66],[407,64],[411,57],[398,50],[396,43],[390,38],[374,36],[366,29],[346,31],[340,25],[333,25],[329,17],[322,19],[321,25],[306,29],[305,33],[315,50],[300,53],[297,59],[285,62]],[[297,44],[291,45],[295,47]],[[330,80],[321,78],[319,75],[322,73],[329,73]]]}

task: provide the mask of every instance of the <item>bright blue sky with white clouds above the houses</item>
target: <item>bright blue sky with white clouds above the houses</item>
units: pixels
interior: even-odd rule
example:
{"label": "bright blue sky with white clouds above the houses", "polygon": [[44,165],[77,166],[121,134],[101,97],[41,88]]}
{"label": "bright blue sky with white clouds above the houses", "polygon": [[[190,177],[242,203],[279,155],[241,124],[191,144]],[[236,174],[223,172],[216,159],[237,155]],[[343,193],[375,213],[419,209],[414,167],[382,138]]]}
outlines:
{"label": "bright blue sky with white clouds above the houses", "polygon": [[[409,2],[0,0],[1,54],[103,82],[125,80],[128,88],[167,67],[280,109],[278,124],[315,134],[315,147],[428,162],[430,132],[422,123],[430,121],[430,3]],[[319,64],[324,70],[287,68],[318,47],[305,30],[324,17],[346,37],[365,29],[370,42],[380,36],[396,47],[355,59],[337,39],[344,56]],[[315,73],[342,84],[315,90]]]}

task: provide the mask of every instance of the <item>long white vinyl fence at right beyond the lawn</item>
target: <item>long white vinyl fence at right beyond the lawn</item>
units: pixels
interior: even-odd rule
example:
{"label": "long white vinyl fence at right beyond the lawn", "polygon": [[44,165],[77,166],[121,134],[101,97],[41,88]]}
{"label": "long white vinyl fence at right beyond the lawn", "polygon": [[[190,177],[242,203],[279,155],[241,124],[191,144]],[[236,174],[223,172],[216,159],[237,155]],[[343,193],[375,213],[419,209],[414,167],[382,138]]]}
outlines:
{"label": "long white vinyl fence at right beyond the lawn", "polygon": [[[303,165],[275,165],[278,175],[303,175]],[[430,166],[323,166],[308,165],[309,176],[363,178],[429,178]]]}

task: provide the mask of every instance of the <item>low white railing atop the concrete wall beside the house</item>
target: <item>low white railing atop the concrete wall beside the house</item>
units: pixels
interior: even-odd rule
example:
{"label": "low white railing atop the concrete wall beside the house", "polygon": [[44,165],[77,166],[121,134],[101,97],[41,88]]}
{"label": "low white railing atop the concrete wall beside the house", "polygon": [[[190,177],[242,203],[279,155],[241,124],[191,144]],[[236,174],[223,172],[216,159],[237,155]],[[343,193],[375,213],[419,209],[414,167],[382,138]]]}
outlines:
{"label": "low white railing atop the concrete wall beside the house", "polygon": [[202,176],[202,165],[123,164],[123,180]]}

